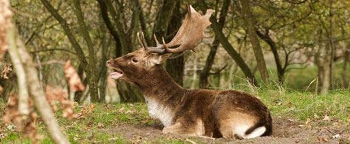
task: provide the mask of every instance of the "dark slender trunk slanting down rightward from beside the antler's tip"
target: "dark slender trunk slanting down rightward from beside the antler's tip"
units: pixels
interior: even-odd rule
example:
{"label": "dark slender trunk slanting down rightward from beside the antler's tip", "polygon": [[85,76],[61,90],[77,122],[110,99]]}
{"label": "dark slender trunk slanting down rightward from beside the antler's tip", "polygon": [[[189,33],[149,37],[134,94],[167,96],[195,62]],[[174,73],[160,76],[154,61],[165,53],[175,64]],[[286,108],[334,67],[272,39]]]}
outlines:
{"label": "dark slender trunk slanting down rightward from beside the antler's tip", "polygon": [[[207,5],[205,5],[205,1],[200,1],[198,4],[200,5],[202,12],[205,12],[207,10]],[[211,27],[213,28],[215,36],[218,37],[218,40],[221,43],[222,47],[224,47],[224,49],[226,50],[227,53],[229,53],[231,58],[233,58],[233,60],[235,60],[238,67],[240,67],[240,69],[242,70],[244,75],[248,78],[248,81],[250,82],[250,84],[257,86],[258,84],[257,84],[257,80],[255,80],[255,76],[253,75],[252,71],[249,69],[246,62],[244,62],[240,53],[238,53],[233,48],[233,46],[229,43],[229,40],[226,38],[224,33],[222,33],[222,31],[220,31],[220,25],[216,21],[215,16],[211,16],[210,21],[211,21]]]}

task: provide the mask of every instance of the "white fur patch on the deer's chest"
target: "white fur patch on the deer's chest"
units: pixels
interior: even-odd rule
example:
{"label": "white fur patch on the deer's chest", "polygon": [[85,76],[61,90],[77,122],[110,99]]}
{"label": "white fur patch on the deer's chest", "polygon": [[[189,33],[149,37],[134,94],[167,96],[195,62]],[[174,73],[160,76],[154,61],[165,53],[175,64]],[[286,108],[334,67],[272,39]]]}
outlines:
{"label": "white fur patch on the deer's chest", "polygon": [[148,115],[154,119],[159,119],[163,125],[172,125],[172,120],[174,118],[174,112],[171,108],[167,106],[162,106],[158,101],[145,97],[145,101],[148,107]]}

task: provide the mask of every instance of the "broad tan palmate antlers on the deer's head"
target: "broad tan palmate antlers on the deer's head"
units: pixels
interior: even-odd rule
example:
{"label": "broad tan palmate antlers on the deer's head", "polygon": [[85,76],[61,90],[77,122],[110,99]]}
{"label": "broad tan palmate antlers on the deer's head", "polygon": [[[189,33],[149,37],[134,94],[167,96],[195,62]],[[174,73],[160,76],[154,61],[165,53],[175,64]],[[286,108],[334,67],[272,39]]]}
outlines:
{"label": "broad tan palmate antlers on the deer's head", "polygon": [[163,44],[159,43],[155,34],[154,40],[156,41],[156,47],[147,46],[143,33],[141,33],[141,37],[137,33],[137,39],[141,47],[148,51],[148,53],[182,53],[189,49],[193,50],[206,36],[205,29],[211,24],[209,21],[211,14],[213,14],[213,10],[211,9],[207,10],[205,15],[201,15],[191,5],[187,5],[185,20],[170,43],[165,43],[164,37],[162,38]]}

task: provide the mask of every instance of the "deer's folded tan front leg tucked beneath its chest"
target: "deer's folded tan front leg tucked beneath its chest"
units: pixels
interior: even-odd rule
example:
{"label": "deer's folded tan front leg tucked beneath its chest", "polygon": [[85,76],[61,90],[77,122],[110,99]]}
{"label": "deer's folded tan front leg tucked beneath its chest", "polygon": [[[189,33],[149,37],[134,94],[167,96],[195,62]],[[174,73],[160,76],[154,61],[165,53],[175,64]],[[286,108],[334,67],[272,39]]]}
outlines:
{"label": "deer's folded tan front leg tucked beneath its chest", "polygon": [[[186,122],[185,124],[183,124]],[[205,134],[205,127],[202,120],[196,122],[176,121],[174,125],[163,128],[163,134],[178,134],[185,136],[202,136]]]}

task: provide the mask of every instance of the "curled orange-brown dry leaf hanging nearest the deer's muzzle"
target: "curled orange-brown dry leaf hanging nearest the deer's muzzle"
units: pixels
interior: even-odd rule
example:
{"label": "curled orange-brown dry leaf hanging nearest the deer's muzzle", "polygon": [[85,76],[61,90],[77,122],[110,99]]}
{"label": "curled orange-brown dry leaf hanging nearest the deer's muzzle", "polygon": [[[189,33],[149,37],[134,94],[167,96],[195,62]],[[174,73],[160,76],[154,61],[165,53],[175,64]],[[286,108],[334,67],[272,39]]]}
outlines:
{"label": "curled orange-brown dry leaf hanging nearest the deer's muzzle", "polygon": [[71,60],[68,60],[65,64],[65,76],[71,91],[84,91],[85,86],[82,84],[77,71],[75,71],[74,67],[71,65]]}

